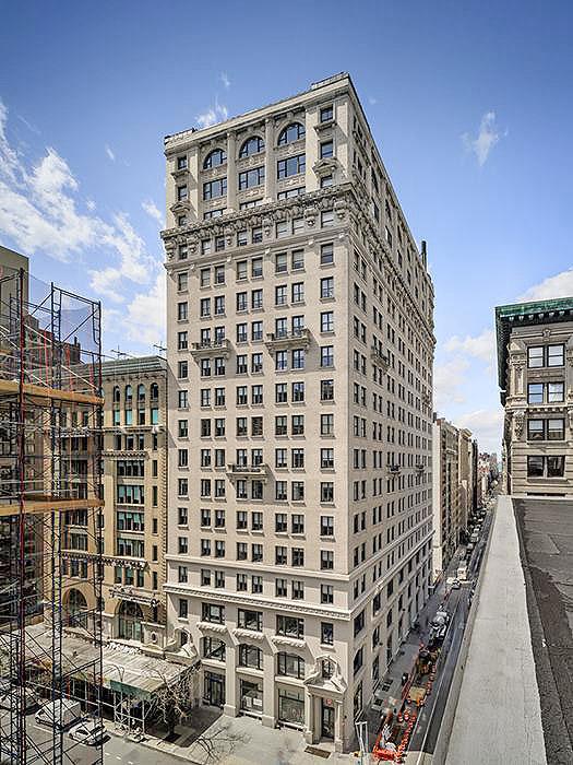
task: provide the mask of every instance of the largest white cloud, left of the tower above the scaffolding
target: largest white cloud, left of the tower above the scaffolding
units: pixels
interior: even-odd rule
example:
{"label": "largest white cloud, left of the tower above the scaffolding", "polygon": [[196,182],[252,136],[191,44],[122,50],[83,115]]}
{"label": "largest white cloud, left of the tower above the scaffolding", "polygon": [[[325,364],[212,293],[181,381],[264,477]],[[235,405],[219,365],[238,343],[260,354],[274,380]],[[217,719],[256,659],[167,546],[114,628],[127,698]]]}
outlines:
{"label": "largest white cloud, left of the tower above the scaffolding", "polygon": [[[77,209],[79,183],[68,163],[53,149],[31,165],[5,136],[8,109],[0,101],[0,233],[26,255],[41,251],[63,262],[79,261],[96,249],[104,266],[89,271],[91,285],[116,302],[124,299],[121,280],[151,281],[156,261],[124,213],[111,221]],[[109,261],[111,258],[111,262]]]}

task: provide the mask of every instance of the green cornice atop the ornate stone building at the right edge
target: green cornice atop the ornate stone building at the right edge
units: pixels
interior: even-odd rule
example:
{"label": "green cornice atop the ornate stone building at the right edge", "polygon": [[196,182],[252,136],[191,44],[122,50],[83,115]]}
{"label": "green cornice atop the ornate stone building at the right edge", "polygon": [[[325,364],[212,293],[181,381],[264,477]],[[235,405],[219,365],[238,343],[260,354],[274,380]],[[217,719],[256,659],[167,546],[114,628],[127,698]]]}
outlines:
{"label": "green cornice atop the ornate stone building at the right edge", "polygon": [[508,374],[508,345],[515,327],[549,325],[573,320],[573,297],[551,301],[514,303],[496,308],[496,336],[498,341],[498,381],[505,390]]}

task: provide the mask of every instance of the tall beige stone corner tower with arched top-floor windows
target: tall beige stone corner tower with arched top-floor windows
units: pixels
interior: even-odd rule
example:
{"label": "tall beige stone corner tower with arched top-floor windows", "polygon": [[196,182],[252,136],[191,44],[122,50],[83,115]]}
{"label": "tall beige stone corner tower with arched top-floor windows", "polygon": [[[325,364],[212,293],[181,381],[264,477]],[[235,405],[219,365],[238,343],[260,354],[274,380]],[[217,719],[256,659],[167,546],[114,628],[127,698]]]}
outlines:
{"label": "tall beige stone corner tower with arched top-floor windows", "polygon": [[431,580],[426,251],[347,74],[165,153],[169,639],[342,750]]}

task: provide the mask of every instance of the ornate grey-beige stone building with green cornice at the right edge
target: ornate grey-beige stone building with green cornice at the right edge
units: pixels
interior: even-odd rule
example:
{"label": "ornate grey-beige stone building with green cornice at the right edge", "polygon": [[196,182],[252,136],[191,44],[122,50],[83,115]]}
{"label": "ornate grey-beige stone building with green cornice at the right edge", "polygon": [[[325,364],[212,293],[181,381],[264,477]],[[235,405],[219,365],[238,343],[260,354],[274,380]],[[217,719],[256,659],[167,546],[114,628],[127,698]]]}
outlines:
{"label": "ornate grey-beige stone building with green cornice at the right edge", "polygon": [[573,494],[573,297],[496,308],[509,494]]}

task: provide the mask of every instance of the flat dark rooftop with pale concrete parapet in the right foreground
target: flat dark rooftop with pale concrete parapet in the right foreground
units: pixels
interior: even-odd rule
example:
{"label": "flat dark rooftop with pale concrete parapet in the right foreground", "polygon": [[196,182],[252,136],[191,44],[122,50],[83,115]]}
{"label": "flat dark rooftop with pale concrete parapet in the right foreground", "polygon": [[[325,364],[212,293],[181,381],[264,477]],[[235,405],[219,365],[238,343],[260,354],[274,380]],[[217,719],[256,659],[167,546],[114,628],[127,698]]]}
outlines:
{"label": "flat dark rooftop with pale concrete parapet in the right foreground", "polygon": [[484,561],[446,765],[571,763],[571,501],[500,496]]}

